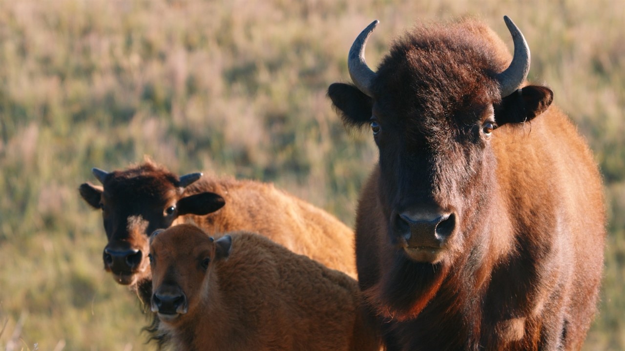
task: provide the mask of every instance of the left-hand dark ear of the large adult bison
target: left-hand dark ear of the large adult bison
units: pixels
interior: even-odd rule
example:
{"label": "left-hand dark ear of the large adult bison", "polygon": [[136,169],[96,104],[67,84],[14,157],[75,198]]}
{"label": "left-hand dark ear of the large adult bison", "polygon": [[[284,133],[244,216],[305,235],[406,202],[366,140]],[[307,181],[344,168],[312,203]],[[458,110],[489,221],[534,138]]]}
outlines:
{"label": "left-hand dark ear of the large adult bison", "polygon": [[350,84],[334,83],[327,88],[337,113],[347,127],[359,127],[371,119],[373,99]]}

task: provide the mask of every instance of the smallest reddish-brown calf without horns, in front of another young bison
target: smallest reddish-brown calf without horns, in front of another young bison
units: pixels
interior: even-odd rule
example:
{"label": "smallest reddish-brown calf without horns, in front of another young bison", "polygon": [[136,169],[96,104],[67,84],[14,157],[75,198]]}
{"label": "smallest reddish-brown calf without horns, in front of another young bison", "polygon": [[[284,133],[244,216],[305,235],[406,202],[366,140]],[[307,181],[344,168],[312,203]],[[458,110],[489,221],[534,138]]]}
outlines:
{"label": "smallest reddish-brown calf without horns, in front of another young bison", "polygon": [[149,249],[152,311],[180,350],[379,350],[356,280],[266,237],[181,224]]}

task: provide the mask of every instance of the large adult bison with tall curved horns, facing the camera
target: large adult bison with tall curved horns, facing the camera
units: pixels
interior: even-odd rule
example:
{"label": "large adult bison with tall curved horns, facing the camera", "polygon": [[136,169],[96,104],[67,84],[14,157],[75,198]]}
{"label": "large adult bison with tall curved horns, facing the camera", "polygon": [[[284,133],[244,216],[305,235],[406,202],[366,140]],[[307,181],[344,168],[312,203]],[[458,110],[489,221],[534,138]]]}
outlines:
{"label": "large adult bison with tall curved horns, facing the camera", "polygon": [[[605,214],[586,143],[484,24],[418,26],[377,72],[373,22],[328,95],[379,161],[356,219],[359,284],[391,350],[575,350],[596,310]],[[388,323],[382,323],[388,322]]]}

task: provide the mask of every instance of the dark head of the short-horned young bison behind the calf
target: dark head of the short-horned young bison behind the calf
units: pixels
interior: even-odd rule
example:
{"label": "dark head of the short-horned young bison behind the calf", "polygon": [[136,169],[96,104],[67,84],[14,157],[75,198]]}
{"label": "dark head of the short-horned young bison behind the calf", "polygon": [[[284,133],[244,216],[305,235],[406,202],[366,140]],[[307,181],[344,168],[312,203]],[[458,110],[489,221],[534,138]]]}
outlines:
{"label": "dark head of the short-horned young bison behind the calf", "polygon": [[[168,228],[181,215],[204,215],[224,205],[222,197],[211,192],[186,196],[188,178],[178,179],[151,164],[111,173],[94,169],[94,174],[103,187],[85,183],[80,192],[89,205],[102,210],[108,237],[104,269],[123,285],[150,279],[149,233]],[[200,176],[192,174],[191,182]]]}

